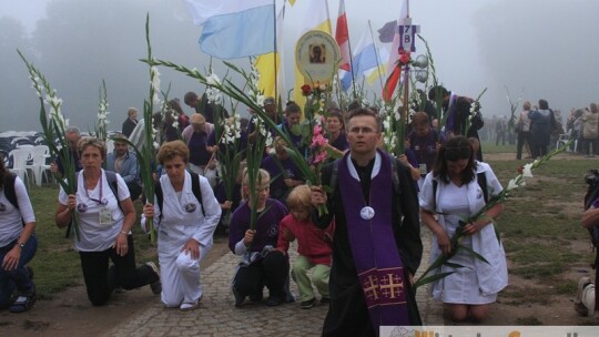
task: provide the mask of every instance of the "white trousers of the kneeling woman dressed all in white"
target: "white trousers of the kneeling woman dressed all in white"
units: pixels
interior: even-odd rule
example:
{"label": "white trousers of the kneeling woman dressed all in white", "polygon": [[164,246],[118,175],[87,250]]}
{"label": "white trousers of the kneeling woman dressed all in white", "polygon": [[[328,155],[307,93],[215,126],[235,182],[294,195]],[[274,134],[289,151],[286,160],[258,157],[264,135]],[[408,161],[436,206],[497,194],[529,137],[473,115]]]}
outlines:
{"label": "white trousers of the kneeling woman dressed all in white", "polygon": [[200,261],[193,259],[191,254],[183,252],[175,256],[159,254],[162,303],[166,307],[179,307],[182,303],[195,303],[202,297],[200,262],[206,256],[210,248],[200,247]]}

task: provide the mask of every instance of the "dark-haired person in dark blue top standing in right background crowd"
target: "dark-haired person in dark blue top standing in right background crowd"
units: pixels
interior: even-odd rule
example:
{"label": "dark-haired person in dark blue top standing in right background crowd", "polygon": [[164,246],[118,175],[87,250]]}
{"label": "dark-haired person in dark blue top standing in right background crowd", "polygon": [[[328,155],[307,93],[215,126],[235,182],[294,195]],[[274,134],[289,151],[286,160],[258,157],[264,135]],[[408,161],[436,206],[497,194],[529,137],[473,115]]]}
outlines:
{"label": "dark-haired person in dark blue top standing in right background crowd", "polygon": [[530,119],[530,152],[537,159],[547,154],[551,131],[556,127],[554,112],[546,100],[539,100],[539,109],[528,113]]}

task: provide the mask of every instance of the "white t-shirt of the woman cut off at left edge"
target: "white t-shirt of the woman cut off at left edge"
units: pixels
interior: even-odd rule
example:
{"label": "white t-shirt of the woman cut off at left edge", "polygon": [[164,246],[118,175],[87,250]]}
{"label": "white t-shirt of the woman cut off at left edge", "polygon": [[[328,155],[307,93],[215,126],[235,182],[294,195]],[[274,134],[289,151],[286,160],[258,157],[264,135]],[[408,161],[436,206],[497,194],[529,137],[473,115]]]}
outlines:
{"label": "white t-shirt of the woman cut off at left edge", "polygon": [[0,190],[0,247],[9,245],[12,241],[19,238],[23,232],[23,223],[35,222],[33,207],[27,194],[27,188],[20,177],[14,178],[14,194],[19,208],[14,207],[7,198],[4,188]]}

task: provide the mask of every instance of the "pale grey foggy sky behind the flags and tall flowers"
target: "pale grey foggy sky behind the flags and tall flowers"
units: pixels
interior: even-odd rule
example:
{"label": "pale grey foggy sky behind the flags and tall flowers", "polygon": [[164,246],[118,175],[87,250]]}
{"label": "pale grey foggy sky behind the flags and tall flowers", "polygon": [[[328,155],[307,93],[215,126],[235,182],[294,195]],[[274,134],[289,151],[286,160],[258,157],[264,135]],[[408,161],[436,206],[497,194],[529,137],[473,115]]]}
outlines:
{"label": "pale grey foggy sky behind the flags and tall flowers", "polygon": [[[292,60],[300,22],[308,16],[301,1],[285,18],[285,78],[293,83]],[[399,16],[393,0],[346,0],[352,44],[367,21],[373,29]],[[277,0],[277,3],[282,3]],[[595,0],[418,0],[410,17],[433,52],[437,78],[457,94],[481,98],[485,116],[509,114],[512,100],[547,99],[566,115],[573,106],[599,102],[599,1]],[[329,0],[333,20],[338,0]],[[17,54],[21,50],[50,81],[72,125],[93,130],[99,90],[106,82],[110,130],[119,130],[129,106],[141,110],[149,91],[144,23],[151,19],[155,58],[209,68],[200,52],[201,28],[194,27],[182,1],[173,0],[2,0],[0,1],[0,132],[39,130],[39,101]],[[375,32],[376,38],[376,32]],[[424,53],[420,43],[417,53]],[[236,60],[246,67],[247,59]],[[213,60],[216,73],[226,73]],[[169,96],[203,92],[192,79],[161,68]],[[379,92],[378,81],[374,92]],[[191,110],[184,106],[186,113]]]}

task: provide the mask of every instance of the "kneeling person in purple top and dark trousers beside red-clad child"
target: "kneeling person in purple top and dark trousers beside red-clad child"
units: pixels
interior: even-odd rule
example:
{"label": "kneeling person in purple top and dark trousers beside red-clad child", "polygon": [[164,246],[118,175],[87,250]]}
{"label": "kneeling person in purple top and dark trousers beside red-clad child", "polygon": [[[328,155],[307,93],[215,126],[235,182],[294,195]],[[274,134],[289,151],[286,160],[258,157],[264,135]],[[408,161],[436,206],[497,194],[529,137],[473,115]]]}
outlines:
{"label": "kneeling person in purple top and dark trousers beside red-clad child", "polygon": [[[241,307],[247,296],[254,303],[262,302],[264,286],[270,294],[266,305],[278,306],[291,299],[285,289],[290,277],[290,258],[275,249],[278,223],[287,215],[287,208],[268,197],[271,176],[265,170],[257,170],[254,191],[250,190],[250,170],[245,170],[242,182],[245,202],[231,216],[229,228],[229,248],[242,256],[232,285],[235,307]],[[253,211],[257,215],[252,224]]]}

